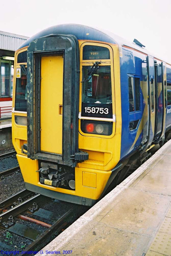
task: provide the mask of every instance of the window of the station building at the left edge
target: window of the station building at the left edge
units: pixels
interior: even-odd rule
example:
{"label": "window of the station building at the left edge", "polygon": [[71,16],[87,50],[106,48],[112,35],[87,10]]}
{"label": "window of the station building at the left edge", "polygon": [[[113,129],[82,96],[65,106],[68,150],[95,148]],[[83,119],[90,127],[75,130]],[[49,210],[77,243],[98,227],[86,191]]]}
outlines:
{"label": "window of the station building at the left edge", "polygon": [[0,59],[0,97],[12,97],[13,61]]}

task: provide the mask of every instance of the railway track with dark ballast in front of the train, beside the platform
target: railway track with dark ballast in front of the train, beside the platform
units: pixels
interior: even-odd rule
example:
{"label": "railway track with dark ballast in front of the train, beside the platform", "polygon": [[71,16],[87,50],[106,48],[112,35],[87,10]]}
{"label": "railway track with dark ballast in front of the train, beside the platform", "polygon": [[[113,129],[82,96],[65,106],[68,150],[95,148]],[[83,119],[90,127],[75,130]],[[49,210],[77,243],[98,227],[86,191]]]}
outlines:
{"label": "railway track with dark ballast in front of the train, beside the platform", "polygon": [[[72,208],[57,219],[54,212],[39,208],[38,205],[44,200],[45,196],[23,189],[0,203],[0,229],[28,239],[30,244],[27,244],[27,247],[24,248],[23,251],[36,252],[41,250],[54,238],[54,234],[57,236],[71,224],[67,218],[71,216],[73,212],[75,213],[76,205],[74,205],[74,207],[72,206]],[[51,203],[60,204],[60,201],[51,201]],[[41,221],[37,220],[39,219],[37,217],[41,218]],[[19,219],[24,220],[24,224],[21,224],[20,221],[18,221]],[[42,219],[44,221],[42,221]],[[51,224],[47,223],[49,221]],[[30,223],[37,224],[36,226],[38,228],[29,227]],[[46,230],[41,232],[39,225],[46,228]],[[12,250],[11,245],[4,243],[4,241],[0,242],[0,248],[3,248],[3,250]],[[15,249],[13,248],[13,250]],[[22,250],[20,250],[19,253],[19,255],[23,255]],[[27,255],[29,255],[29,253],[27,253]],[[33,253],[30,255],[33,255]]]}

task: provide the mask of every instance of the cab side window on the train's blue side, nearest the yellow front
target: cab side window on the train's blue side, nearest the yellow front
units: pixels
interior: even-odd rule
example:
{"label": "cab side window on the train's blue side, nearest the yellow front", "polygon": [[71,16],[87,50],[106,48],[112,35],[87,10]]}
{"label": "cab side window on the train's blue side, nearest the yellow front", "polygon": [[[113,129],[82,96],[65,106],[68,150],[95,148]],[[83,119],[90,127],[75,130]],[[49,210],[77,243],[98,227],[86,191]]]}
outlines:
{"label": "cab side window on the train's blue side, nearest the yellow front", "polygon": [[129,110],[130,112],[137,111],[140,109],[139,102],[139,78],[128,77],[128,88],[129,88]]}

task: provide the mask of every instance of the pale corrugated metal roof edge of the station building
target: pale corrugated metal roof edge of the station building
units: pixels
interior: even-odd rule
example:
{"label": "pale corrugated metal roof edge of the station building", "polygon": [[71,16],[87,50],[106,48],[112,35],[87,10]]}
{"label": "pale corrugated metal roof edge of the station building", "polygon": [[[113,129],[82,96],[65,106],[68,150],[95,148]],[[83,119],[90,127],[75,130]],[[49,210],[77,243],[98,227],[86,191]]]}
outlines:
{"label": "pale corrugated metal roof edge of the station building", "polygon": [[0,31],[0,49],[16,51],[29,37]]}

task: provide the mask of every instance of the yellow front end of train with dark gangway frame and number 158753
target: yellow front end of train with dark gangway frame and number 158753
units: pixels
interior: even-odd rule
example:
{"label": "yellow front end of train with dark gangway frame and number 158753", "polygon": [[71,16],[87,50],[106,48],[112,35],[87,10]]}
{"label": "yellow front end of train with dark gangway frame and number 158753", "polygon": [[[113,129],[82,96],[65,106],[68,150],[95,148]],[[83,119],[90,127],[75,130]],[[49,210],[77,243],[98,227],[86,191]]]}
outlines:
{"label": "yellow front end of train with dark gangway frame and number 158753", "polygon": [[12,140],[26,189],[89,206],[100,198],[120,160],[119,70],[118,45],[71,35],[15,53]]}

